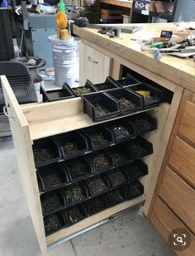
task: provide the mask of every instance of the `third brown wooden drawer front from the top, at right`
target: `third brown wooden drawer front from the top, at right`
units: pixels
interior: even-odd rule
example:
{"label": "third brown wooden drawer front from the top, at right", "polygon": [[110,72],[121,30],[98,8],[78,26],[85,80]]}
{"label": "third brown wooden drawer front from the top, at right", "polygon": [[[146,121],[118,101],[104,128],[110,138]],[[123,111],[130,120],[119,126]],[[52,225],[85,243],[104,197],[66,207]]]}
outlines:
{"label": "third brown wooden drawer front from the top, at right", "polygon": [[159,196],[195,234],[195,191],[168,167],[159,188]]}

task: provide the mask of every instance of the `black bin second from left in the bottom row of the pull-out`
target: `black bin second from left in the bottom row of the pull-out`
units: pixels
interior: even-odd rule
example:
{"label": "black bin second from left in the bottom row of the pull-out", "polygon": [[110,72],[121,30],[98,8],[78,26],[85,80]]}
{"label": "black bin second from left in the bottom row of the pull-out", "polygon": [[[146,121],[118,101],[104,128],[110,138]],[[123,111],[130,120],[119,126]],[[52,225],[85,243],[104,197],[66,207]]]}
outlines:
{"label": "black bin second from left in the bottom row of the pull-out", "polygon": [[60,211],[60,215],[64,220],[64,227],[69,227],[86,218],[88,216],[88,211],[83,204],[78,204]]}

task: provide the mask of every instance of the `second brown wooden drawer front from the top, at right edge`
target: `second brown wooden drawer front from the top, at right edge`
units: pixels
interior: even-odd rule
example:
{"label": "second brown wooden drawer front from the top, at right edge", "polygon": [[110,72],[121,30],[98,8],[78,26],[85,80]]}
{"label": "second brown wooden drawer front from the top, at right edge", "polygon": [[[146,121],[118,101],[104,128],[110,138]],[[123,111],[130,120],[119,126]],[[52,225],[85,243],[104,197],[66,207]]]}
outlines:
{"label": "second brown wooden drawer front from the top, at right edge", "polygon": [[195,188],[195,149],[176,137],[170,153],[169,164]]}

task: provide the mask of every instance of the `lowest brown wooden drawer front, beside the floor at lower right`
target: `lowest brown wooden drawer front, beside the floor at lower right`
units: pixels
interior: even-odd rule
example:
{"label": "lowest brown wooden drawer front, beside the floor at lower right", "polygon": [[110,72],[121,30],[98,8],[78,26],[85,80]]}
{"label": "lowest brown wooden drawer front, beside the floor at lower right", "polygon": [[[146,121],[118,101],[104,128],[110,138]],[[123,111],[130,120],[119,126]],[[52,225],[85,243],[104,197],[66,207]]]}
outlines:
{"label": "lowest brown wooden drawer front, beside the floor at lower right", "polygon": [[[163,201],[159,197],[155,200],[154,209],[151,215],[151,222],[162,234],[164,239],[168,242],[169,234],[174,229],[185,229],[185,227],[179,222],[177,217],[164,205]],[[188,232],[188,229],[185,229]],[[195,239],[192,237],[190,247],[183,252],[177,252],[181,256],[193,256],[195,255]]]}

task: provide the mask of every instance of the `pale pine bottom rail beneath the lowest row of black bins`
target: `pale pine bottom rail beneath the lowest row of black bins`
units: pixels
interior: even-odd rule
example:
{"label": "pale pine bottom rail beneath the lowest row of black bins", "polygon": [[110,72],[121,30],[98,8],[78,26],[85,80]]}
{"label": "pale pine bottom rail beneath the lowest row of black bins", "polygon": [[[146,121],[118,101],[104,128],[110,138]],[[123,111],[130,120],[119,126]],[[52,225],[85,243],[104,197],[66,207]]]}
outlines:
{"label": "pale pine bottom rail beneath the lowest row of black bins", "polygon": [[90,227],[91,225],[97,224],[98,222],[102,220],[106,220],[107,218],[111,217],[112,215],[117,214],[121,210],[126,210],[129,207],[133,205],[140,204],[145,200],[145,196],[138,196],[133,200],[127,200],[119,205],[113,206],[111,208],[108,208],[106,210],[102,210],[96,215],[92,215],[88,217],[87,219],[81,220],[75,225],[70,226],[66,229],[60,229],[59,231],[55,232],[54,234],[50,234],[46,237],[47,244],[54,244],[56,241],[59,241],[60,239],[64,239],[64,237],[67,237],[71,234],[75,234],[79,230],[86,229]]}

